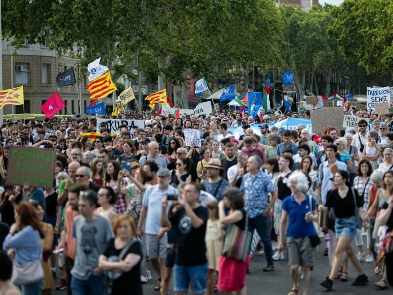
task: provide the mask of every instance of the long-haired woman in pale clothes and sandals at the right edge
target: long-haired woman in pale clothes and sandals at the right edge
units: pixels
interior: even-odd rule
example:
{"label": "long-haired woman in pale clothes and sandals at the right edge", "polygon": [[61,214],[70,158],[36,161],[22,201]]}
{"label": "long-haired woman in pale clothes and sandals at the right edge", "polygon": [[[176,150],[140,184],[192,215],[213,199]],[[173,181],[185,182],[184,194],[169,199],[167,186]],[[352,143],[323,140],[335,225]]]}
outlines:
{"label": "long-haired woman in pale clothes and sandals at the right edge", "polygon": [[[378,191],[375,194],[374,202],[372,203],[371,207],[367,210],[367,213],[365,214],[365,218],[370,221],[371,221],[370,216],[373,216],[375,213],[377,214],[375,217],[374,229],[372,231],[371,247],[373,247],[374,245],[374,242],[377,238],[378,229],[380,227],[379,216],[381,213],[382,206],[389,200],[389,196],[391,195],[392,190],[393,190],[393,171],[388,170],[387,172],[385,172],[383,177],[383,187],[378,189]],[[374,269],[374,273],[378,274],[381,272],[381,270],[382,270],[382,266],[379,265]],[[386,267],[385,267],[382,279],[379,282],[375,283],[375,286],[380,289],[385,289],[386,282],[387,282],[387,277],[386,277]]]}

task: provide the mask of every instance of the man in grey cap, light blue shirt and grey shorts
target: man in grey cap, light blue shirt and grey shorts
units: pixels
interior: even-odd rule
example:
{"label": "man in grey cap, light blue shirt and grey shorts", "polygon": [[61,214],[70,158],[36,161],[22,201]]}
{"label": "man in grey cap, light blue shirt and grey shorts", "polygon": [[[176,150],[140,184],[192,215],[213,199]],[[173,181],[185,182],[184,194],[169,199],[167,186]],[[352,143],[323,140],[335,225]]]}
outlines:
{"label": "man in grey cap, light blue shirt and grey shorts", "polygon": [[[158,147],[157,147],[158,148]],[[170,171],[167,168],[160,168],[157,172],[158,183],[146,189],[143,194],[142,209],[140,211],[139,222],[137,226],[137,236],[146,238],[147,256],[157,273],[158,280],[154,290],[160,290],[162,287],[162,278],[164,278],[164,262],[167,258],[167,234],[159,239],[158,233],[161,228],[161,203],[167,199],[168,195],[178,196],[176,188],[169,185]],[[170,201],[168,202],[170,206]],[[166,208],[168,212],[168,207]],[[145,223],[144,232],[142,226]]]}

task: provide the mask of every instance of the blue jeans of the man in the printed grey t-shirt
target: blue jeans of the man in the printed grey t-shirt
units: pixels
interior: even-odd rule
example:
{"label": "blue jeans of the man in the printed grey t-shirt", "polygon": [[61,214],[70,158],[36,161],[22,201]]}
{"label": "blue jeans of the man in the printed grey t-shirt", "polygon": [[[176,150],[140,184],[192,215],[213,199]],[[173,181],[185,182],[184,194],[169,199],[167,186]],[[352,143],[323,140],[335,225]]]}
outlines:
{"label": "blue jeans of the man in the printed grey t-shirt", "polygon": [[90,275],[87,280],[80,280],[76,277],[71,278],[71,290],[73,295],[104,295],[105,294],[105,275]]}

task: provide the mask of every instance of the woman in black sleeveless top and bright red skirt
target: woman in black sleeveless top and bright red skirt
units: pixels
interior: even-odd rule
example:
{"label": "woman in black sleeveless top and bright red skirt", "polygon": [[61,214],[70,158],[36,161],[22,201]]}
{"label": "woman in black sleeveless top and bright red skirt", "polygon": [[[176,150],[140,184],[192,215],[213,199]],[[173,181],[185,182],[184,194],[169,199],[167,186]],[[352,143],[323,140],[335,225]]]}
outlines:
{"label": "woman in black sleeveless top and bright red skirt", "polygon": [[[219,219],[222,224],[238,227],[241,231],[248,231],[246,228],[247,213],[244,209],[243,193],[235,187],[227,187],[222,193],[223,200],[218,204]],[[224,207],[229,208],[229,214],[225,214]],[[225,239],[228,236],[225,235]],[[234,258],[220,256],[217,288],[224,294],[230,295],[236,292],[237,295],[246,294],[245,277],[250,264],[250,254],[247,254],[245,261]]]}

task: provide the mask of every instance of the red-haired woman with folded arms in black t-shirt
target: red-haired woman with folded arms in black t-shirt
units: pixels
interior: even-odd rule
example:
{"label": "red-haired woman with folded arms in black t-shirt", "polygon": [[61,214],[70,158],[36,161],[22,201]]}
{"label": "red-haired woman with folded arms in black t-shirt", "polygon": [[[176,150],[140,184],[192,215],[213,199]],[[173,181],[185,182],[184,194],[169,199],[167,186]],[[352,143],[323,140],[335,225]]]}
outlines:
{"label": "red-haired woman with folded arms in black t-shirt", "polygon": [[[134,219],[125,215],[117,217],[113,222],[115,237],[108,242],[98,260],[98,266],[110,272],[106,294],[123,294],[125,290],[132,290],[133,295],[143,294],[140,281],[142,247],[135,238],[135,228]],[[120,253],[125,248],[125,254],[119,259]],[[109,288],[111,290],[108,290]]]}

